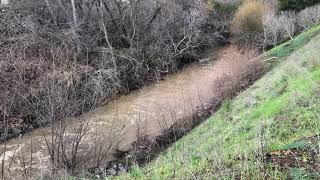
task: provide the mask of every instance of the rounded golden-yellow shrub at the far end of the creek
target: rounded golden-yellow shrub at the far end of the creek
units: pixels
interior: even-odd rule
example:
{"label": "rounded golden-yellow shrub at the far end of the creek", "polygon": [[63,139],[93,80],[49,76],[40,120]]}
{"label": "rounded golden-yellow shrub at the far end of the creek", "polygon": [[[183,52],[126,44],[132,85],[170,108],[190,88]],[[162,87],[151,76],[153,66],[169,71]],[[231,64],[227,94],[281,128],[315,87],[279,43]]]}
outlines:
{"label": "rounded golden-yellow shrub at the far end of the creek", "polygon": [[262,17],[264,13],[265,4],[262,1],[244,1],[235,14],[232,31],[234,33],[262,32]]}

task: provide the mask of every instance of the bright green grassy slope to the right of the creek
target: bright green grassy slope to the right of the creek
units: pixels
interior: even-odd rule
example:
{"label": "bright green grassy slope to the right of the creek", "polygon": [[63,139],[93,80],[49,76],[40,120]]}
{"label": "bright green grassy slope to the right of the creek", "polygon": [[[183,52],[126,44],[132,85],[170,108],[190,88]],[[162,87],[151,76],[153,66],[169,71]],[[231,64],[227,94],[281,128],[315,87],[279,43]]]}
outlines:
{"label": "bright green grassy slope to the right of the creek", "polygon": [[[267,57],[280,59],[271,63],[277,66],[262,79],[225,102],[210,119],[146,167],[117,178],[274,179],[312,171],[302,165],[276,166],[266,161],[265,154],[303,146],[297,141],[320,134],[319,32],[320,26],[314,27],[267,52]],[[319,163],[320,157],[313,161]]]}

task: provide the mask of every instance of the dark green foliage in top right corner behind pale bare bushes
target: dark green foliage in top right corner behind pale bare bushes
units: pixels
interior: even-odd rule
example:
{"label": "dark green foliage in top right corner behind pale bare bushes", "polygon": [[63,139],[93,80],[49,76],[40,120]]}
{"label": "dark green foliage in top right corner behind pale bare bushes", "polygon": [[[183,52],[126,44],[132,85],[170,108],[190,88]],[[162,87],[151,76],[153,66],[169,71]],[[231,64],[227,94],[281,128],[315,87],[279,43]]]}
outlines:
{"label": "dark green foliage in top right corner behind pale bare bushes", "polygon": [[281,10],[302,10],[306,7],[320,3],[320,0],[278,0]]}

